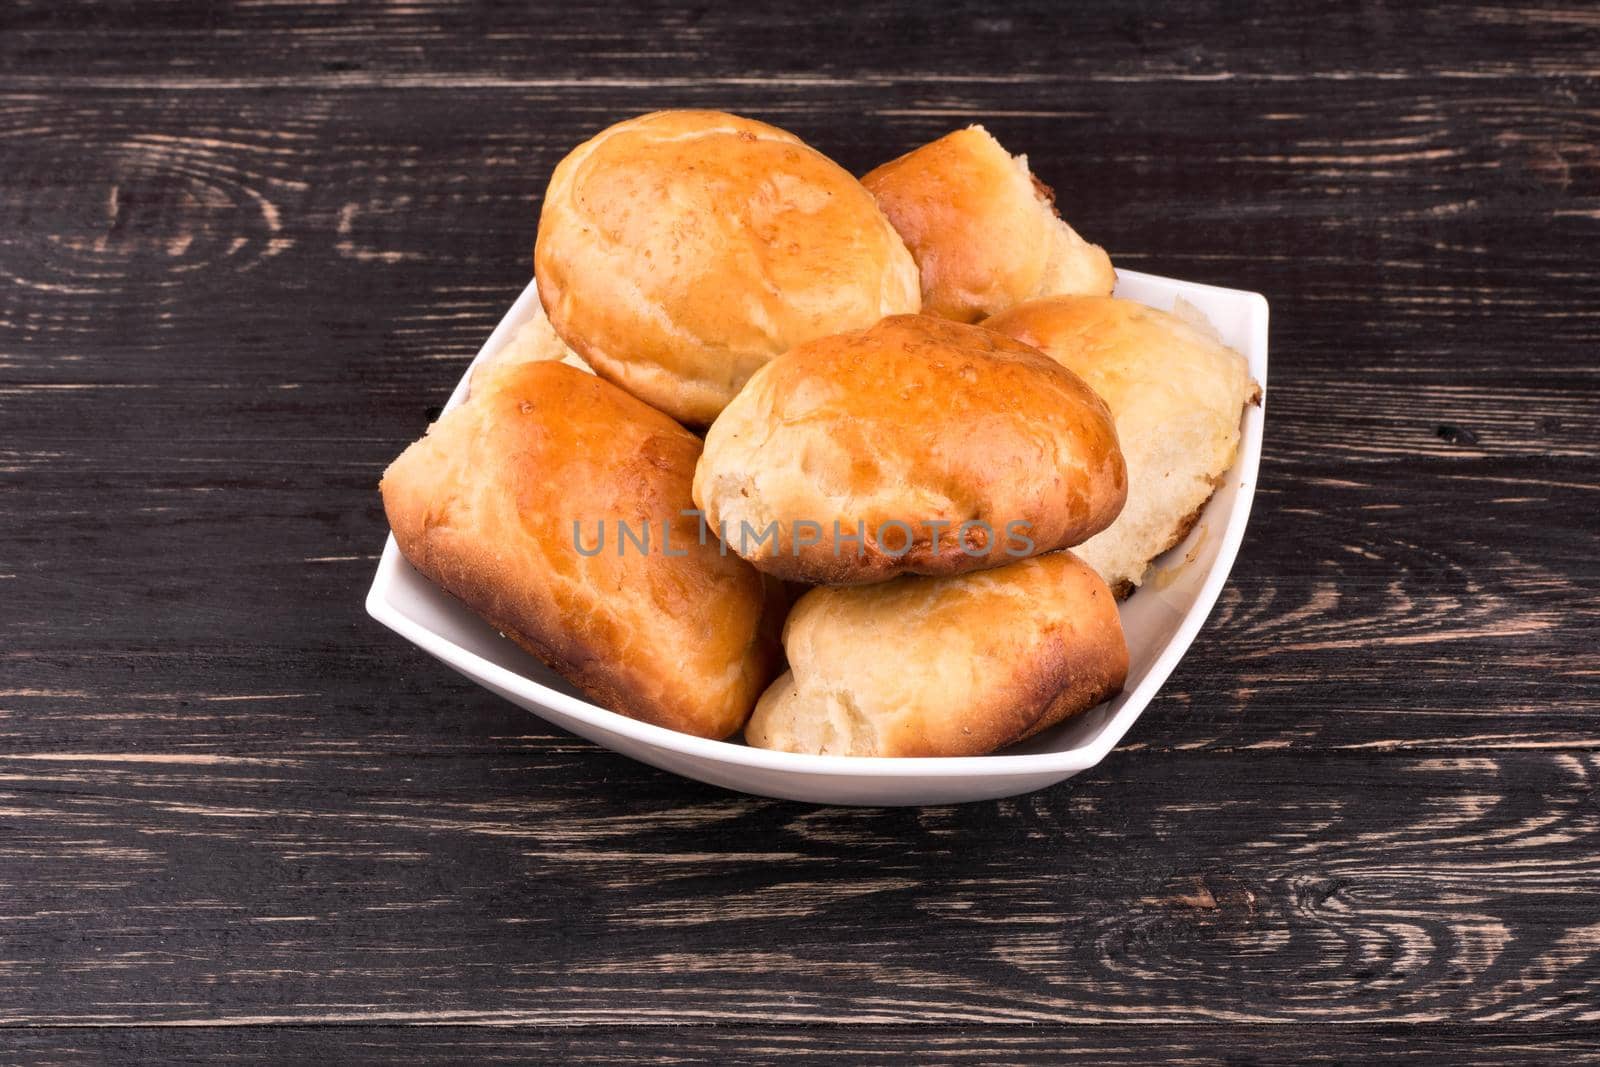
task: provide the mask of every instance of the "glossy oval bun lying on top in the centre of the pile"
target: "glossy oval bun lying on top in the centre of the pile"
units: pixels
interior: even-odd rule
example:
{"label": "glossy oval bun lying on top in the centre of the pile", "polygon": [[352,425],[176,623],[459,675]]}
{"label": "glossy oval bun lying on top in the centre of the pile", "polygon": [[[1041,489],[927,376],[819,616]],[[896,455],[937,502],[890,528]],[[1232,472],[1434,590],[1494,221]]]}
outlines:
{"label": "glossy oval bun lying on top in the centre of the pile", "polygon": [[734,552],[829,584],[1072,545],[1109,526],[1125,493],[1110,413],[1088,386],[1026,344],[928,315],[778,357],[710,427],[694,470],[694,502]]}

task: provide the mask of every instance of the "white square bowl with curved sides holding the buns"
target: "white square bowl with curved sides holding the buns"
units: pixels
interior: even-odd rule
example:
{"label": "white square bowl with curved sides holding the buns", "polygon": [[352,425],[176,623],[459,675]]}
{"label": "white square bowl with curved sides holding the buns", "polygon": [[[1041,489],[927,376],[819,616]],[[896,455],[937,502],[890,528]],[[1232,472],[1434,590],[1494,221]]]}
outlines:
{"label": "white square bowl with curved sides holding the buns", "polygon": [[[1184,299],[1250,360],[1267,384],[1267,301],[1118,270],[1117,296],[1170,310]],[[538,306],[533,283],[490,334],[477,358],[510,341]],[[470,374],[470,370],[469,370]],[[467,376],[450,397],[461,403]],[[1099,763],[1155,697],[1189,649],[1245,536],[1261,462],[1262,406],[1245,413],[1238,459],[1206,504],[1189,539],[1157,560],[1157,573],[1122,605],[1130,669],[1122,696],[1000,755],[958,758],[862,758],[766,752],[733,741],[706,741],[651,726],[586,701],[554,670],[523,653],[450,593],[418,574],[389,537],[366,611],[422,651],[546,721],[651,766],[762,797],[824,805],[939,805],[1014,797]]]}

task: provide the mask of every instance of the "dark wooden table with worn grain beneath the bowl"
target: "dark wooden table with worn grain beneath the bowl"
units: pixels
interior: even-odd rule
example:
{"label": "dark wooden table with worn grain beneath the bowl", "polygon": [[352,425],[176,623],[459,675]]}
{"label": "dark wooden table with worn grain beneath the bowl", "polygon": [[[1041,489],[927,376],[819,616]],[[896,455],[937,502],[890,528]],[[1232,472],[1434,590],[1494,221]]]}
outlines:
{"label": "dark wooden table with worn grain beneath the bowl", "polygon": [[[0,1043],[150,1059],[1600,1051],[1600,18],[1581,3],[10,3]],[[982,122],[1272,301],[1251,531],[1106,763],[739,797],[362,611],[379,470],[658,107]]]}

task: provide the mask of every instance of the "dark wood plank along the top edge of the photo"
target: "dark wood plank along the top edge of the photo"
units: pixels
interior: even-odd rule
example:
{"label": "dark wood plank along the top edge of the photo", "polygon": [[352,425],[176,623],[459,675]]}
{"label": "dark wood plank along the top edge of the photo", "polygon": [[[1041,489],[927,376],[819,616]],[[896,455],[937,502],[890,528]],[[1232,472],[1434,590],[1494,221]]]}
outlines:
{"label": "dark wood plank along the top edge of the photo", "polygon": [[[1336,80],[1594,75],[1595,18],[1578,0],[1341,3],[1315,13],[1267,0],[1149,0],[1064,8],[1046,0],[941,5],[874,0],[845,13],[782,5],[459,5],[376,0],[150,11],[94,18],[50,0],[8,5],[3,70],[14,82],[301,85],[557,82],[654,88],[1066,75],[1077,82]],[[1021,101],[1016,101],[1022,106]]]}

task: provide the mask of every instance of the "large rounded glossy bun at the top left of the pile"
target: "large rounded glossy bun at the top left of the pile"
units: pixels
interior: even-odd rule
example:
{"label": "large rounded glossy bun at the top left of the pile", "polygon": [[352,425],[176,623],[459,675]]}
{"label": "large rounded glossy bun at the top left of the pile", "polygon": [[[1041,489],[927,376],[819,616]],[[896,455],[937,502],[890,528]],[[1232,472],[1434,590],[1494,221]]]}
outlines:
{"label": "large rounded glossy bun at the top left of the pile", "polygon": [[774,355],[920,307],[917,266],[861,182],[714,110],[578,146],[550,176],[533,262],[566,344],[686,426]]}

